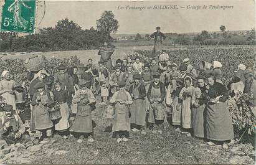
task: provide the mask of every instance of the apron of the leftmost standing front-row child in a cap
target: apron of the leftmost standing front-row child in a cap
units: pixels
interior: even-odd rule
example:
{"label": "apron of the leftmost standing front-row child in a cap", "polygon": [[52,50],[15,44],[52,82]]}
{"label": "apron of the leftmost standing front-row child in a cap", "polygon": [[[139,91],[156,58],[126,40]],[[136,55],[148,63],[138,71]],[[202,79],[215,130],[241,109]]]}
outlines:
{"label": "apron of the leftmost standing front-row child in a cap", "polygon": [[[40,94],[38,93],[38,95]],[[41,102],[39,103],[39,105],[34,106],[36,130],[45,130],[47,128],[52,128],[52,126],[54,126],[52,121],[50,120],[48,107],[42,105],[42,102],[47,101],[49,101],[47,95],[42,95]]]}

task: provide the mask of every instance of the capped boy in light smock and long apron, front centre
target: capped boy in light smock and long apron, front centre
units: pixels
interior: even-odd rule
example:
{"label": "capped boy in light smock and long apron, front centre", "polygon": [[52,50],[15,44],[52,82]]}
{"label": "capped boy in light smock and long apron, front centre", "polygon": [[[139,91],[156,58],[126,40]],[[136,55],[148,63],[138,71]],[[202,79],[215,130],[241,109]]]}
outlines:
{"label": "capped boy in light smock and long apron, front centre", "polygon": [[115,103],[115,116],[113,121],[113,137],[117,137],[117,143],[128,141],[130,131],[130,110],[129,105],[133,103],[131,95],[125,90],[125,82],[118,83],[119,90],[114,93],[110,103]]}

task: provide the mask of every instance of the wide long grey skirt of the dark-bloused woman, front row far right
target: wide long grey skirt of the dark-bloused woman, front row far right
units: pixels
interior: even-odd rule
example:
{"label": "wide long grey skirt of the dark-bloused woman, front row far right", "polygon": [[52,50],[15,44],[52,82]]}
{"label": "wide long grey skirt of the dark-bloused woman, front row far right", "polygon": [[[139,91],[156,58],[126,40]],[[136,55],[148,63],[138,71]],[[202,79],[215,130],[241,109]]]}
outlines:
{"label": "wide long grey skirt of the dark-bloused woman, front row far right", "polygon": [[234,138],[232,119],[227,101],[207,104],[206,138],[216,141],[225,141]]}

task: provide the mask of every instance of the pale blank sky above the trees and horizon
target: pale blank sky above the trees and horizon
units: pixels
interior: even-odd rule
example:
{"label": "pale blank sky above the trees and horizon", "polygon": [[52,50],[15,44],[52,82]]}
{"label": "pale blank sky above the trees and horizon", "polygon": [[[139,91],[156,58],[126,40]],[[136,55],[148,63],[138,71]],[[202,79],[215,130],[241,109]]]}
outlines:
{"label": "pale blank sky above the trees and horizon", "polygon": [[[126,6],[177,5],[179,9],[126,10]],[[187,9],[187,6],[207,6],[207,9]],[[209,9],[213,6],[233,6],[233,9]],[[125,9],[118,9],[123,6]],[[181,8],[184,7],[184,8]],[[229,31],[250,30],[255,27],[253,0],[226,1],[41,1],[37,8],[37,28],[54,27],[60,19],[76,22],[83,29],[96,28],[103,11],[113,11],[120,27],[116,34],[147,34],[156,26],[163,32],[219,31],[224,25]],[[41,21],[42,20],[42,21]],[[39,24],[40,23],[40,24]]]}

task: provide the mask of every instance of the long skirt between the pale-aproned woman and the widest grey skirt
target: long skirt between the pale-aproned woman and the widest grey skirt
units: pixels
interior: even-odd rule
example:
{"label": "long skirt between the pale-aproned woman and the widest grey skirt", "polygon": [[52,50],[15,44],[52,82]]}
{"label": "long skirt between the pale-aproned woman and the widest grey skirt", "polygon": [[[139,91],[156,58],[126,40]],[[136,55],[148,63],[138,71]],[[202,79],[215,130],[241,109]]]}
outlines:
{"label": "long skirt between the pale-aproned woman and the widest grey skirt", "polygon": [[192,128],[194,136],[204,138],[204,110],[206,105],[201,105],[198,108],[192,109]]}

